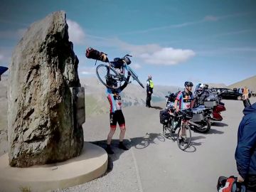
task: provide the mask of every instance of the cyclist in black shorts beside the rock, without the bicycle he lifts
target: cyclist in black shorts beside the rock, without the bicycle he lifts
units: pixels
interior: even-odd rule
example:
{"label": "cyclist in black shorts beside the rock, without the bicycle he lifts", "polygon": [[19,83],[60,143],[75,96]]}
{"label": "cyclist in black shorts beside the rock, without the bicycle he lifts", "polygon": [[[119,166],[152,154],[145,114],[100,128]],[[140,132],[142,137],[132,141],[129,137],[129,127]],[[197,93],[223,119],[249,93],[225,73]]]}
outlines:
{"label": "cyclist in black shorts beside the rock, without the bicycle he lifts", "polygon": [[[124,82],[124,85],[119,87],[117,90],[107,88],[107,99],[110,102],[110,133],[107,135],[107,154],[114,154],[114,151],[111,149],[111,141],[114,135],[114,132],[117,128],[117,122],[120,127],[120,135],[119,135],[119,149],[128,150],[126,146],[123,144],[124,133],[125,133],[125,120],[124,114],[122,113],[122,100],[119,95],[122,90],[128,85],[130,73],[128,73],[127,80]],[[113,87],[117,87],[117,81],[111,79],[107,81],[107,85],[112,85]]]}

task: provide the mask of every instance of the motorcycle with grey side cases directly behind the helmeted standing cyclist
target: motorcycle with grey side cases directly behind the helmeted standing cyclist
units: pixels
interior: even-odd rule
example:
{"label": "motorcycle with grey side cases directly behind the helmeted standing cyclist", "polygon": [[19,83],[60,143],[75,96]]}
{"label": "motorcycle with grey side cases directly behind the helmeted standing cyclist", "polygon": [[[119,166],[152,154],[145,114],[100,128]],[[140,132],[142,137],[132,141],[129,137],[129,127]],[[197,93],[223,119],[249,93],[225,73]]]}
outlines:
{"label": "motorcycle with grey side cases directly behind the helmeted standing cyclist", "polygon": [[[174,107],[174,101],[178,92],[171,93],[168,92],[169,95],[166,95],[166,107],[172,108]],[[210,130],[210,118],[213,111],[210,108],[206,108],[203,105],[200,105],[196,108],[192,109],[193,118],[188,121],[188,124],[191,128],[196,130],[197,132],[206,133]]]}

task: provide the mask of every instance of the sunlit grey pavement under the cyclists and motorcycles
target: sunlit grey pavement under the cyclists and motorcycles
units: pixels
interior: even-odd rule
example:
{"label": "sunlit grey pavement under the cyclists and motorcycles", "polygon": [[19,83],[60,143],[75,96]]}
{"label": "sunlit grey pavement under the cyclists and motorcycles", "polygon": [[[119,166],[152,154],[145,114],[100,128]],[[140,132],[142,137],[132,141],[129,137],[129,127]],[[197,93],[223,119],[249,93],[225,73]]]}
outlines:
{"label": "sunlit grey pavement under the cyclists and motorcycles", "polygon": [[[256,99],[253,98],[252,102]],[[226,111],[223,122],[213,124],[208,134],[192,132],[192,145],[187,151],[176,142],[161,136],[159,109],[126,107],[125,143],[129,151],[117,148],[119,129],[114,134],[114,152],[109,156],[105,176],[94,181],[59,191],[146,191],[146,192],[211,192],[216,191],[218,176],[237,175],[235,146],[242,119],[241,101],[223,100]],[[108,114],[86,119],[85,141],[105,146],[109,131]]]}

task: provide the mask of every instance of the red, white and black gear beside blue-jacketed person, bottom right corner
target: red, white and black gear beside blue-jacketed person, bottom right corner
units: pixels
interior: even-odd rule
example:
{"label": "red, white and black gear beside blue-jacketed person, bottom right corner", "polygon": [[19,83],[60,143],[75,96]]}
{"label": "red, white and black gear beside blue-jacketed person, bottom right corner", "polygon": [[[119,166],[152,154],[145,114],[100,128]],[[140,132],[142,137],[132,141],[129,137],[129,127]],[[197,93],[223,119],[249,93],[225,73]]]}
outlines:
{"label": "red, white and black gear beside blue-jacketed person, bottom right corner", "polygon": [[245,192],[245,186],[237,182],[238,178],[234,176],[220,176],[217,183],[218,192]]}

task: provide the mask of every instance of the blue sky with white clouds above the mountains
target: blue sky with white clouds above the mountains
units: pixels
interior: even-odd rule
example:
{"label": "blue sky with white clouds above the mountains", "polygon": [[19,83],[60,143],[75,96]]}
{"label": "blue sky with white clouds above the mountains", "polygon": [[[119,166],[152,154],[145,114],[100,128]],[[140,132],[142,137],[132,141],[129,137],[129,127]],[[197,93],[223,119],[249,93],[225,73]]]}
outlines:
{"label": "blue sky with white clouds above the mountains", "polygon": [[95,61],[85,58],[89,46],[110,60],[132,54],[139,79],[146,82],[151,74],[155,85],[230,85],[256,75],[253,0],[2,0],[0,65],[9,65],[31,23],[60,10],[80,60],[80,78],[96,77]]}

